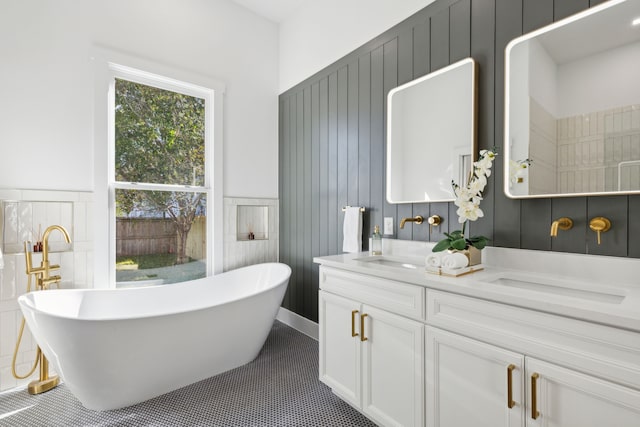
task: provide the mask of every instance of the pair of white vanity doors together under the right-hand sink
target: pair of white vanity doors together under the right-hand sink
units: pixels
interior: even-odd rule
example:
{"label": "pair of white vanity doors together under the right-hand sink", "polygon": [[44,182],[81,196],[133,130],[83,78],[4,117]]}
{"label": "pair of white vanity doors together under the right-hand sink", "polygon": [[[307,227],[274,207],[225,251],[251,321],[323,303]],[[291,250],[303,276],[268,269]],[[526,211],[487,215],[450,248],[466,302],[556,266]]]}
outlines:
{"label": "pair of white vanity doors together under the right-hand sink", "polygon": [[428,427],[640,425],[637,390],[432,327],[426,349]]}

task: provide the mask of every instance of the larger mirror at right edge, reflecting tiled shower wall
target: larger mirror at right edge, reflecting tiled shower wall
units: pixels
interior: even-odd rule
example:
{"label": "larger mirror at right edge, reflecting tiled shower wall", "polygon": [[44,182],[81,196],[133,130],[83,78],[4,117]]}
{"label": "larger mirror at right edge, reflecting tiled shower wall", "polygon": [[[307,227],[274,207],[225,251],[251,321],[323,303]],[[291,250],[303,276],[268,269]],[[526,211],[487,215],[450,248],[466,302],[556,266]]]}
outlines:
{"label": "larger mirror at right edge, reflecting tiled shower wall", "polygon": [[511,198],[640,193],[640,0],[610,0],[506,49]]}

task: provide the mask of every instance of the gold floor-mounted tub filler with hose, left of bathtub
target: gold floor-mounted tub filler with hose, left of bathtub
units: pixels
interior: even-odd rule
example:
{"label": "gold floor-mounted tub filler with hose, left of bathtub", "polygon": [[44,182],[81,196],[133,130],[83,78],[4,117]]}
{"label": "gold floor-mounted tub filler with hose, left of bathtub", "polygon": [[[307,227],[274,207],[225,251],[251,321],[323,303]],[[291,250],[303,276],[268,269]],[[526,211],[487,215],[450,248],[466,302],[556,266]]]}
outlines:
{"label": "gold floor-mounted tub filler with hose, left of bathtub", "polygon": [[[40,263],[40,267],[36,267],[36,268],[33,267],[33,264],[31,261],[31,252],[32,252],[31,243],[24,242],[24,256],[27,264],[26,273],[28,278],[27,292],[31,291],[31,281],[33,278],[35,278],[36,289],[38,291],[47,290],[53,284],[56,284],[57,286],[59,286],[60,280],[62,278],[60,277],[60,275],[52,276],[51,271],[60,269],[60,266],[51,265],[49,263],[49,235],[54,230],[60,231],[60,233],[62,233],[62,236],[64,237],[64,240],[67,243],[71,243],[71,238],[69,237],[69,233],[64,227],[62,227],[61,225],[52,225],[50,227],[47,227],[47,229],[44,231],[44,234],[42,235],[42,243],[40,244],[40,242],[38,242],[35,246],[35,248],[37,248],[35,250],[42,251],[42,262]],[[38,347],[38,350],[36,351],[36,359],[33,362],[33,366],[31,367],[31,370],[26,375],[18,375],[18,373],[16,372],[16,357],[18,355],[18,349],[20,348],[20,342],[22,341],[23,332],[24,332],[24,317],[22,318],[22,322],[20,324],[20,331],[18,332],[18,340],[16,341],[16,348],[13,352],[11,371],[15,378],[25,379],[31,376],[35,372],[36,367],[39,364],[40,376],[37,380],[31,381],[29,383],[27,390],[29,391],[29,394],[44,393],[45,391],[49,391],[52,388],[56,387],[60,383],[60,378],[57,375],[53,375],[51,377],[49,376],[49,361],[47,360],[46,357],[44,357],[44,354],[42,353],[42,350],[40,350],[40,347]]]}

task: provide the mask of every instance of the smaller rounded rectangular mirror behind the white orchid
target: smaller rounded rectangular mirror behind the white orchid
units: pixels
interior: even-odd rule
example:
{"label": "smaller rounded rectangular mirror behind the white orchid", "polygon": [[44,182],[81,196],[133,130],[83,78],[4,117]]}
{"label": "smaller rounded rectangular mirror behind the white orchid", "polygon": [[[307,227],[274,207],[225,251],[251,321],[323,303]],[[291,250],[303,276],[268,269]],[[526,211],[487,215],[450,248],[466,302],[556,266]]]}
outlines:
{"label": "smaller rounded rectangular mirror behind the white orchid", "polygon": [[387,201],[453,201],[475,160],[476,64],[466,58],[391,90]]}

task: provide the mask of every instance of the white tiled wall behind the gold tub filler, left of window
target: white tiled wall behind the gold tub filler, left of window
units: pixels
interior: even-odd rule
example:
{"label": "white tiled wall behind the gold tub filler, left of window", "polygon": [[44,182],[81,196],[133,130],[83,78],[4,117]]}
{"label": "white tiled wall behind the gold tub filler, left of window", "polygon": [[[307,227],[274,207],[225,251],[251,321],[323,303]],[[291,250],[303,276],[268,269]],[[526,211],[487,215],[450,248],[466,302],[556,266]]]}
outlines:
{"label": "white tiled wall behind the gold tub filler, left of window", "polygon": [[[17,299],[27,289],[23,241],[36,241],[50,225],[62,225],[71,237],[71,245],[64,244],[56,231],[50,235],[50,261],[59,264],[56,274],[62,276],[62,288],[87,288],[93,285],[92,194],[84,192],[0,190],[0,248],[4,268],[0,270],[0,391],[24,385],[37,378],[36,374],[16,380],[11,373],[22,313]],[[41,254],[33,254],[39,265]],[[33,289],[33,285],[32,285]],[[36,343],[28,328],[16,358],[16,371],[29,371],[36,355]]]}

